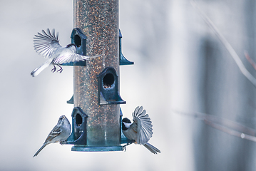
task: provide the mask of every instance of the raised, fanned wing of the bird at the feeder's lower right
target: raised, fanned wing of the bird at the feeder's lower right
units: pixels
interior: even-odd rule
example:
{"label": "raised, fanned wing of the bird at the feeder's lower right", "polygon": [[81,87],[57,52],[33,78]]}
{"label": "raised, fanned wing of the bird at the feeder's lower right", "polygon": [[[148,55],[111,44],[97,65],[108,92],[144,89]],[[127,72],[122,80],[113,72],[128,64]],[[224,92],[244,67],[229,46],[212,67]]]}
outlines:
{"label": "raised, fanned wing of the bird at the feeder's lower right", "polygon": [[146,111],[143,110],[143,107],[135,108],[133,112],[133,124],[131,127],[138,134],[136,142],[138,144],[145,144],[153,135],[153,125],[148,117],[148,114],[145,114]]}

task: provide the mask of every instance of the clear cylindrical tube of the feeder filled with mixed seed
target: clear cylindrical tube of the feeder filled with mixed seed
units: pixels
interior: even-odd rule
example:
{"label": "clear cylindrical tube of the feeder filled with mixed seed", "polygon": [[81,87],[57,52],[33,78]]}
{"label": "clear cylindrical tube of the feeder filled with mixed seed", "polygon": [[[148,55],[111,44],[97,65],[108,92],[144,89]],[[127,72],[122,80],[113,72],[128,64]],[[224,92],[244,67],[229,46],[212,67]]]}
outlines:
{"label": "clear cylindrical tube of the feeder filled with mixed seed", "polygon": [[[119,76],[118,0],[73,0],[74,27],[86,35],[86,66],[74,66],[75,107],[87,118],[87,146],[120,146],[118,104],[99,105],[98,74],[113,67]],[[76,145],[75,145],[76,146]]]}

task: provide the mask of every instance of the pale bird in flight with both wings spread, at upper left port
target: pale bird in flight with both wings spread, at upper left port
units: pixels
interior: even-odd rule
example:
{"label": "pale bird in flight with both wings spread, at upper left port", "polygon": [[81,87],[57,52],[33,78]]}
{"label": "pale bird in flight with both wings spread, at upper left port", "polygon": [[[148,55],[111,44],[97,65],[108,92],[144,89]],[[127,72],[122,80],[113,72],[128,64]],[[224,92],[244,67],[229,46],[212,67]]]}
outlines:
{"label": "pale bird in flight with both wings spread, at upper left port", "polygon": [[34,37],[34,48],[39,55],[42,55],[44,58],[48,58],[48,60],[43,63],[38,68],[34,69],[31,72],[31,76],[35,77],[41,73],[45,68],[53,65],[53,69],[51,70],[53,73],[56,71],[55,65],[57,65],[60,69],[57,72],[62,72],[61,64],[75,62],[75,61],[84,61],[88,60],[88,58],[96,58],[98,56],[82,56],[76,53],[76,46],[74,44],[68,44],[66,47],[62,47],[58,43],[58,33],[55,36],[55,30],[53,29],[53,33],[50,32],[49,28],[46,31],[42,31],[43,33],[38,33],[39,35],[35,35]]}

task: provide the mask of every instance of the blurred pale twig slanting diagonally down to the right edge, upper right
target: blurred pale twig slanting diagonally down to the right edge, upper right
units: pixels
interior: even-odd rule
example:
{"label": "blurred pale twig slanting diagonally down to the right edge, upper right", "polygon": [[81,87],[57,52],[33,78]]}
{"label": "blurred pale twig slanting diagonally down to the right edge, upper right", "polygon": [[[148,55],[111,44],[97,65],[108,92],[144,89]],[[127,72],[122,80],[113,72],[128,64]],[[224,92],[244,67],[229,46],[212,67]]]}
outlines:
{"label": "blurred pale twig slanting diagonally down to the right edge, upper right", "polygon": [[208,26],[213,30],[213,32],[215,33],[217,38],[220,39],[221,43],[225,46],[225,48],[227,48],[227,51],[230,53],[232,58],[235,60],[235,63],[237,63],[237,66],[238,66],[238,68],[240,68],[240,71],[242,72],[242,74],[253,84],[253,86],[256,87],[256,79],[252,76],[252,74],[249,71],[247,71],[247,69],[245,68],[241,59],[239,58],[239,56],[235,52],[234,48],[232,48],[232,46],[230,45],[230,43],[228,43],[227,39],[222,35],[222,33],[220,33],[220,31],[218,31],[217,27],[208,18],[208,16],[206,16],[203,13],[203,11],[200,10],[200,8],[195,3],[195,1],[191,0],[190,2],[193,5],[193,7],[199,11],[200,16],[202,16],[205,23],[208,24]]}

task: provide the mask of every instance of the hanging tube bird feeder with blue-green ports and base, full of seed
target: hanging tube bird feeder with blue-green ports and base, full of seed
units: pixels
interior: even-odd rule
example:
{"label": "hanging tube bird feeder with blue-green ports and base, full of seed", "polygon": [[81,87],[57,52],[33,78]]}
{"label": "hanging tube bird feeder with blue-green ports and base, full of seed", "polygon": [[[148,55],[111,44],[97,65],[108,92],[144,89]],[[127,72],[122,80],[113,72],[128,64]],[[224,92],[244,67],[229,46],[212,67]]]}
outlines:
{"label": "hanging tube bird feeder with blue-green ports and base, full of seed", "polygon": [[121,130],[119,66],[130,65],[121,52],[118,0],[74,0],[71,42],[77,53],[100,57],[73,65],[72,151],[120,151],[129,140]]}

